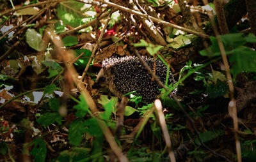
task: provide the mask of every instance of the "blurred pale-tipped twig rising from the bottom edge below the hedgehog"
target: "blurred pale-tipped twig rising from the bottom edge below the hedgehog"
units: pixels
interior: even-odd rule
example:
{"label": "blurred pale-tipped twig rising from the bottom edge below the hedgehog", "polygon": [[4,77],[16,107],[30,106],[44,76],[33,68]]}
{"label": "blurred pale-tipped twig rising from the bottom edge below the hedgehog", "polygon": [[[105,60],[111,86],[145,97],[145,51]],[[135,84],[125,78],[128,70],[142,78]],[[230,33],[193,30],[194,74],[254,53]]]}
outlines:
{"label": "blurred pale-tipped twig rising from the bottom edge below the hedgehog", "polygon": [[172,142],[170,140],[170,135],[169,135],[169,132],[168,132],[168,128],[166,126],[166,122],[165,122],[165,118],[164,118],[164,113],[163,113],[163,107],[162,107],[160,99],[156,99],[156,101],[154,101],[154,105],[155,105],[155,108],[157,110],[159,124],[160,124],[160,126],[162,128],[162,131],[163,131],[164,141],[166,143],[166,147],[168,148],[168,152],[169,152],[169,156],[170,156],[170,161],[171,162],[175,162],[176,159],[175,159],[174,153],[172,151]]}

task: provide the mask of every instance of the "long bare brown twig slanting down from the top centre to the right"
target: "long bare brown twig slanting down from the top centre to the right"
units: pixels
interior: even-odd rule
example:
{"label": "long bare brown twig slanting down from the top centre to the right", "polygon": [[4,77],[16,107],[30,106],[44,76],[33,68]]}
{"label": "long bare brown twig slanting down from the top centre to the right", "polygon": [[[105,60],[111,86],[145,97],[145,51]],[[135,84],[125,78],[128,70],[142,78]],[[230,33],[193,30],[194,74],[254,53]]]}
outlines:
{"label": "long bare brown twig slanting down from the top centre to the right", "polygon": [[[108,1],[102,1],[102,0],[95,0],[95,1],[99,1],[99,2],[104,3],[104,4],[108,4],[108,6],[113,6],[115,8],[118,8],[119,10],[127,11],[129,13],[133,13],[134,15],[138,15],[140,17],[147,18],[147,15],[141,13],[140,11],[131,10],[130,8],[126,8],[124,6],[120,6],[118,4],[111,3],[111,2],[108,2]],[[173,27],[175,29],[180,29],[181,31],[186,31],[188,33],[195,34],[196,36],[200,36],[202,38],[210,38],[210,36],[207,35],[207,34],[199,33],[197,31],[193,31],[193,30],[188,29],[186,27],[177,26],[175,24],[171,24],[170,22],[166,22],[166,21],[161,20],[159,18],[152,17],[150,15],[148,15],[148,18],[151,18],[152,21],[158,22],[159,24],[163,24],[164,26],[170,26],[170,27]]]}

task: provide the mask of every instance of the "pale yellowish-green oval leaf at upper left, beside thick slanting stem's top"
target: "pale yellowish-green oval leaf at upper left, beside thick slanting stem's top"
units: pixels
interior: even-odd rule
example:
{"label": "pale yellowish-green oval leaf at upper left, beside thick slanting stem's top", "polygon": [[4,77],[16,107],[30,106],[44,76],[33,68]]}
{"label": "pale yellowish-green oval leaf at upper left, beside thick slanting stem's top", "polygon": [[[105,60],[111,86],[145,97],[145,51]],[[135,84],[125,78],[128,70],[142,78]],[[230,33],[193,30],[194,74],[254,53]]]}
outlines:
{"label": "pale yellowish-green oval leaf at upper left, beside thick slanting stem's top", "polygon": [[37,51],[43,51],[46,48],[42,36],[35,31],[35,29],[28,29],[26,31],[26,41],[31,48]]}

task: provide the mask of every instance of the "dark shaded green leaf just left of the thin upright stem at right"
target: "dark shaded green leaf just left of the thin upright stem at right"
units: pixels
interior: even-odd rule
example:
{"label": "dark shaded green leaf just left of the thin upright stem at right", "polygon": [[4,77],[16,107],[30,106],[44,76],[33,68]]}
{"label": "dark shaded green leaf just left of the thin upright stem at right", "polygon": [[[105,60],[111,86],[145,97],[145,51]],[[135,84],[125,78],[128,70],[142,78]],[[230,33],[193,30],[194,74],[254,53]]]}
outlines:
{"label": "dark shaded green leaf just left of the thin upright stem at right", "polygon": [[220,80],[217,80],[216,84],[210,84],[207,86],[205,92],[209,95],[209,98],[217,98],[223,96],[228,92],[227,82],[221,82]]}

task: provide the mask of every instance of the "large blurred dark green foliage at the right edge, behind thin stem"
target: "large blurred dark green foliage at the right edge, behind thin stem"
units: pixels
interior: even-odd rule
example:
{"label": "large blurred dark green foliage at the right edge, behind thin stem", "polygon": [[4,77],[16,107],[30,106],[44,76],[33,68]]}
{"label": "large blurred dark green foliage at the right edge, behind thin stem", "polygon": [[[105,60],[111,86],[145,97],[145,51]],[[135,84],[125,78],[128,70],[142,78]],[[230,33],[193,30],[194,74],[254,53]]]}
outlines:
{"label": "large blurred dark green foliage at the right edge, behind thin stem", "polygon": [[[237,74],[247,71],[256,71],[256,52],[249,47],[245,47],[246,43],[256,43],[256,37],[253,34],[243,36],[242,33],[226,34],[220,36],[223,41],[227,54],[230,54],[230,63],[232,63],[231,73],[236,78]],[[201,55],[209,57],[220,55],[217,39],[211,37],[212,45],[205,50],[200,51]]]}

